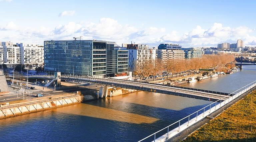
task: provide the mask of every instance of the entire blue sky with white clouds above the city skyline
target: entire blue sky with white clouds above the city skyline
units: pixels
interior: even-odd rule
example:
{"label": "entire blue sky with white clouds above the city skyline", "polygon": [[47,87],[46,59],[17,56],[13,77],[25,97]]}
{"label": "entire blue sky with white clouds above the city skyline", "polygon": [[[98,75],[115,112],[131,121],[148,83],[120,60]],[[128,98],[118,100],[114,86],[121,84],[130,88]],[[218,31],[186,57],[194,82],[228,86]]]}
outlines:
{"label": "entire blue sky with white clouds above the city skyline", "polygon": [[121,43],[256,45],[256,1],[0,0],[0,41],[43,44],[83,36]]}

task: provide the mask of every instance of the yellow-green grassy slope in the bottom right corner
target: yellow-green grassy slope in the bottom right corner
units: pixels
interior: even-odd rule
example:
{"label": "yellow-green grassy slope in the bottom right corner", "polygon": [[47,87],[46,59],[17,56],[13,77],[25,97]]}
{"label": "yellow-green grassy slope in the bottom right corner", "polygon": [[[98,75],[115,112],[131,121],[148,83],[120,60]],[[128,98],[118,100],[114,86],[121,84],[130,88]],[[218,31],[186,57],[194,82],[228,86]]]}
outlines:
{"label": "yellow-green grassy slope in the bottom right corner", "polygon": [[256,90],[184,141],[256,141]]}

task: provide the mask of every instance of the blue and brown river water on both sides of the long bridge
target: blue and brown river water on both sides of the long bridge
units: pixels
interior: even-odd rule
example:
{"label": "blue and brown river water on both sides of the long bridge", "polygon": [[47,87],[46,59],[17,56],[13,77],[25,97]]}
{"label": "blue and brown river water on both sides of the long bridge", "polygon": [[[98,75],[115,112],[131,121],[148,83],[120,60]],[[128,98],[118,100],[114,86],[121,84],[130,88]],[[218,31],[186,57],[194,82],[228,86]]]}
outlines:
{"label": "blue and brown river water on both sides of the long bridge", "polygon": [[[256,66],[184,85],[233,92],[256,80]],[[152,92],[112,98],[0,120],[0,141],[138,141],[210,104]]]}

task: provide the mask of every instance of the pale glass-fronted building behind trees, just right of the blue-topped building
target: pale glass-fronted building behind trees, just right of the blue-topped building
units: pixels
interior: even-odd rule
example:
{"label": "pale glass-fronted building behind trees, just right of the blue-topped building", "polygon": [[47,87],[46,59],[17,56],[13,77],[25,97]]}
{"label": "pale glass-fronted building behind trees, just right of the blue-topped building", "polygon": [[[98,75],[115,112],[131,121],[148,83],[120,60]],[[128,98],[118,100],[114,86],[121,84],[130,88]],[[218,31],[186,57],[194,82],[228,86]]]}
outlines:
{"label": "pale glass-fronted building behind trees, just right of the blue-topped building", "polygon": [[182,48],[185,52],[185,58],[191,59],[191,58],[202,58],[203,57],[203,51],[201,48]]}

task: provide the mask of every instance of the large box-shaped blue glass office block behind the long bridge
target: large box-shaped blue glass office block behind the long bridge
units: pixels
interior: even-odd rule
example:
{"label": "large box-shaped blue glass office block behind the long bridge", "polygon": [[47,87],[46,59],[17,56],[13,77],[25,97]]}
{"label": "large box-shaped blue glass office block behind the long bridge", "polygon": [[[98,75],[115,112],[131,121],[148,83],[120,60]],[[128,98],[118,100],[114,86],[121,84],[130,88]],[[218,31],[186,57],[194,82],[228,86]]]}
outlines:
{"label": "large box-shaped blue glass office block behind the long bridge", "polygon": [[112,49],[115,44],[97,40],[44,41],[44,69],[97,78],[105,78],[107,73],[117,74],[107,68],[107,47]]}

